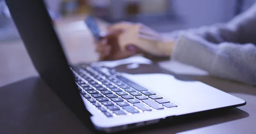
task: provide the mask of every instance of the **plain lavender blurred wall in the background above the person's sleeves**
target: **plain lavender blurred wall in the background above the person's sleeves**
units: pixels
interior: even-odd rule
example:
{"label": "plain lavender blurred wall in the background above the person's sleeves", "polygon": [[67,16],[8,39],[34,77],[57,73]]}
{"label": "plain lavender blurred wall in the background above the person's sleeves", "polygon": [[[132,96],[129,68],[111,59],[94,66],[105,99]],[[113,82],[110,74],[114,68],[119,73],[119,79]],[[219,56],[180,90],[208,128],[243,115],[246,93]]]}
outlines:
{"label": "plain lavender blurred wall in the background above the person's sleeves", "polygon": [[[243,9],[256,0],[244,0]],[[236,0],[173,0],[173,7],[186,22],[186,27],[227,22],[234,17]]]}

